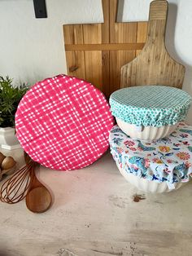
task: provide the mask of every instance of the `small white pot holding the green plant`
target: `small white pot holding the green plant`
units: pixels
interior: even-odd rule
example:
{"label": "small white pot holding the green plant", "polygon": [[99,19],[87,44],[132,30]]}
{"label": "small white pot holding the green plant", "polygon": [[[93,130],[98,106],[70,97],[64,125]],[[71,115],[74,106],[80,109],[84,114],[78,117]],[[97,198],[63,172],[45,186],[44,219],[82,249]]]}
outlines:
{"label": "small white pot holding the green plant", "polygon": [[0,148],[5,148],[8,150],[21,148],[20,143],[15,136],[14,128],[0,128]]}

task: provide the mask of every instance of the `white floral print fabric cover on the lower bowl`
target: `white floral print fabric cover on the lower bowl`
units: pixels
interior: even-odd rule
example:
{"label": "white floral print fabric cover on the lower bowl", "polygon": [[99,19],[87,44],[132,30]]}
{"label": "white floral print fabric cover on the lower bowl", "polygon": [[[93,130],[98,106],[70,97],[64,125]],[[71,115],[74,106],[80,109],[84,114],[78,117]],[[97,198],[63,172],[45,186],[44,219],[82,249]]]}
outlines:
{"label": "white floral print fabric cover on the lower bowl", "polygon": [[151,143],[131,139],[119,126],[110,133],[111,154],[116,165],[138,177],[167,182],[187,182],[192,173],[192,126],[180,123],[171,135]]}

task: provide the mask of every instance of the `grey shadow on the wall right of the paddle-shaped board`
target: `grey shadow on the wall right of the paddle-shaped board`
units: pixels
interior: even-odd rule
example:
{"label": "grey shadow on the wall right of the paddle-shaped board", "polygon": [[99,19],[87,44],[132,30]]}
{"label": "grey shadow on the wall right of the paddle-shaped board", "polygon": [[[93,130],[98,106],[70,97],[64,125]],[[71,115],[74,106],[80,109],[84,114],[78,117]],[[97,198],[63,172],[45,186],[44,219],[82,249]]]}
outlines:
{"label": "grey shadow on the wall right of the paddle-shaped board", "polygon": [[[186,64],[185,61],[181,58],[181,56],[177,54],[177,49],[174,41],[177,24],[177,8],[177,4],[175,3],[168,4],[168,21],[165,37],[166,47],[172,58],[185,66],[185,79],[183,82],[183,90],[185,90],[192,96],[192,66]],[[190,111],[188,113],[186,121],[190,125],[192,125],[192,106],[190,107]]]}

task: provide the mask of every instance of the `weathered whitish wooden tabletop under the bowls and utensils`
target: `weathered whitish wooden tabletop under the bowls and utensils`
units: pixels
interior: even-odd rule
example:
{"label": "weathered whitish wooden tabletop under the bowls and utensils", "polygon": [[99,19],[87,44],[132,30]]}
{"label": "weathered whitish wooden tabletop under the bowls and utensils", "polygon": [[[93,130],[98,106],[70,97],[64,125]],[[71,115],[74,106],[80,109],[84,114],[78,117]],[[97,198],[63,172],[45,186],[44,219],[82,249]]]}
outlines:
{"label": "weathered whitish wooden tabletop under the bowls and utensils", "polygon": [[[21,160],[19,150],[12,153]],[[126,182],[110,154],[82,170],[41,167],[37,176],[54,204],[33,214],[24,201],[0,203],[1,256],[191,255],[191,183],[133,202],[143,193]]]}

